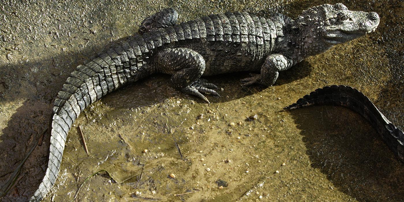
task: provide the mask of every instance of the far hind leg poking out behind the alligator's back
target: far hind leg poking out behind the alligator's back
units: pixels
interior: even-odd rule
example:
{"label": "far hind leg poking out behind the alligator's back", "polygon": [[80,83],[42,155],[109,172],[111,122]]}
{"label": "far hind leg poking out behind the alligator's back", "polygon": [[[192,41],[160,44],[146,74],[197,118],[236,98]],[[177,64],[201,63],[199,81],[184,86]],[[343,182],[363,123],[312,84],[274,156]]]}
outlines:
{"label": "far hind leg poking out behind the alligator's back", "polygon": [[174,8],[165,8],[146,17],[139,26],[139,34],[144,34],[162,27],[170,27],[177,23],[178,13]]}

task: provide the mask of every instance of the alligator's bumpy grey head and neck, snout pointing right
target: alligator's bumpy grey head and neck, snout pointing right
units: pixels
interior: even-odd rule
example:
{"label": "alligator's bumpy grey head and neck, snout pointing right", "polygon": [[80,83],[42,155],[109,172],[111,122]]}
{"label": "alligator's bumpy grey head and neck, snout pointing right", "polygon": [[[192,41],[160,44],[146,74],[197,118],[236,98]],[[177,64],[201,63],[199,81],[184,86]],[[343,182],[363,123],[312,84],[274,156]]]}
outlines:
{"label": "alligator's bumpy grey head and neck, snout pointing right", "polygon": [[301,34],[297,42],[305,57],[316,55],[375,31],[379,21],[375,12],[349,11],[341,3],[315,6],[297,18],[295,25]]}

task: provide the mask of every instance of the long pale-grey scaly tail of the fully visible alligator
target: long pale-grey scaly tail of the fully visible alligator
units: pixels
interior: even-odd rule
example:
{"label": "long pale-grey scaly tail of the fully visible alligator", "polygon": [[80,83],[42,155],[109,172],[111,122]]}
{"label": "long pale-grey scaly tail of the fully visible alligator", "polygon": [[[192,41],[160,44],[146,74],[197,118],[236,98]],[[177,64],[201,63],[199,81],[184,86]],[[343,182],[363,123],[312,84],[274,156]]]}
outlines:
{"label": "long pale-grey scaly tail of the fully visible alligator", "polygon": [[29,201],[41,201],[55,184],[67,133],[80,113],[107,93],[147,76],[142,55],[135,56],[129,43],[132,42],[120,42],[106,53],[85,61],[63,84],[53,107],[48,168],[39,188]]}

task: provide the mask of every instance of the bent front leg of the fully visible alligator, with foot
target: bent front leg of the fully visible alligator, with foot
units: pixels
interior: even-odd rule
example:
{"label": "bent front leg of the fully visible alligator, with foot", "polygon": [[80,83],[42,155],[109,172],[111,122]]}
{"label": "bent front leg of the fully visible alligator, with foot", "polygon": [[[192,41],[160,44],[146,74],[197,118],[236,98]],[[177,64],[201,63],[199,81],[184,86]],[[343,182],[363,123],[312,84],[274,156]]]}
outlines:
{"label": "bent front leg of the fully visible alligator, with foot", "polygon": [[279,71],[289,69],[295,62],[282,54],[272,54],[265,59],[261,67],[261,74],[250,74],[251,77],[240,80],[242,86],[259,84],[263,86],[272,86],[278,78]]}

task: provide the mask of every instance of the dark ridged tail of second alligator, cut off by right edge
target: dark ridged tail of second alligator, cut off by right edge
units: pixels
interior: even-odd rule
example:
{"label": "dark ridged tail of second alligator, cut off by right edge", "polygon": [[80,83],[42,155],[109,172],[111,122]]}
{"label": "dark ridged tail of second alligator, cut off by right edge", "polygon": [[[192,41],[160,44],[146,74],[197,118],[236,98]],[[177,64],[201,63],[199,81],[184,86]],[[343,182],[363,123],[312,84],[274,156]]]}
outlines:
{"label": "dark ridged tail of second alligator, cut off by right edge", "polygon": [[350,86],[332,85],[318,88],[303,96],[296,103],[284,107],[285,110],[299,109],[315,105],[337,105],[362,115],[381,135],[387,147],[404,162],[404,133],[392,124],[377,107],[359,90]]}

